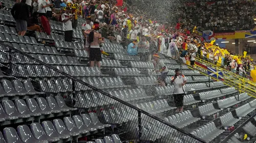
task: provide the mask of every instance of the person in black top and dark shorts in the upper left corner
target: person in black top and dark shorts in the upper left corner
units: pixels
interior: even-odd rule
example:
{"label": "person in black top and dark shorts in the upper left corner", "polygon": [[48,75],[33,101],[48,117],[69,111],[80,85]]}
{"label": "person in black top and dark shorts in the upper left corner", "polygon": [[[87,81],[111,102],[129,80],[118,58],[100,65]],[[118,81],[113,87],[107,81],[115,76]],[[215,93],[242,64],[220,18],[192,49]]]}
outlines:
{"label": "person in black top and dark shorts in the upper left corner", "polygon": [[27,31],[27,20],[29,18],[29,6],[26,4],[26,0],[16,3],[12,7],[11,13],[16,21],[18,35],[24,36]]}

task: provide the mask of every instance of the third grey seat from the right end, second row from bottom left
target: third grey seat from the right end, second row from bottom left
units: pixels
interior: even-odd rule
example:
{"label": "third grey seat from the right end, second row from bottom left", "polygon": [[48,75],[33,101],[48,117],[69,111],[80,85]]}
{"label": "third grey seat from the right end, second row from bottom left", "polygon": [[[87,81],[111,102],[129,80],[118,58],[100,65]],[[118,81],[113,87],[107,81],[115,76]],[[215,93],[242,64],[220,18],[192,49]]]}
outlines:
{"label": "third grey seat from the right end, second row from bottom left", "polygon": [[39,106],[39,108],[42,110],[41,113],[45,115],[49,115],[51,113],[59,113],[60,110],[52,110],[49,105],[47,104],[47,101],[45,98],[38,97],[36,98],[36,102]]}

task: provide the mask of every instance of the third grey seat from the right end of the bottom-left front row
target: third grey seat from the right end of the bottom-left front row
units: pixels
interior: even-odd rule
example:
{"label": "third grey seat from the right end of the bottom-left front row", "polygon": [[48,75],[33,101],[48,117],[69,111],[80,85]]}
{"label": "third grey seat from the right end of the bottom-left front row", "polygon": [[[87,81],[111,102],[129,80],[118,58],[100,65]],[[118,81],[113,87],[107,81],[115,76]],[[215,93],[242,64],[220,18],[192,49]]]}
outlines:
{"label": "third grey seat from the right end of the bottom-left front row", "polygon": [[97,131],[97,129],[95,128],[95,126],[93,126],[92,124],[90,125],[86,125],[82,118],[79,116],[79,115],[75,115],[73,116],[73,121],[76,125],[76,127],[81,130],[81,131],[90,131],[90,132],[94,132],[94,131]]}

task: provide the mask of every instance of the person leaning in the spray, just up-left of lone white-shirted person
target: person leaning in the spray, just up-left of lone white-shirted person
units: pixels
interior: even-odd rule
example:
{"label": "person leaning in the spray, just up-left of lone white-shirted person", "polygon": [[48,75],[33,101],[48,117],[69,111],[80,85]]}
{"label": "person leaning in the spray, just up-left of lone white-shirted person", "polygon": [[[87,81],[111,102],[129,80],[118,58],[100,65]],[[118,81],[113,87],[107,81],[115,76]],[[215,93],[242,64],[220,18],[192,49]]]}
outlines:
{"label": "person leaning in the spray, just up-left of lone white-shirted person", "polygon": [[159,72],[161,73],[160,77],[158,77],[158,82],[162,87],[164,87],[165,86],[165,79],[166,79],[167,74],[168,74],[168,69],[165,66],[164,62],[160,59],[160,56],[157,53],[153,54],[152,63],[155,67],[156,73],[159,73]]}

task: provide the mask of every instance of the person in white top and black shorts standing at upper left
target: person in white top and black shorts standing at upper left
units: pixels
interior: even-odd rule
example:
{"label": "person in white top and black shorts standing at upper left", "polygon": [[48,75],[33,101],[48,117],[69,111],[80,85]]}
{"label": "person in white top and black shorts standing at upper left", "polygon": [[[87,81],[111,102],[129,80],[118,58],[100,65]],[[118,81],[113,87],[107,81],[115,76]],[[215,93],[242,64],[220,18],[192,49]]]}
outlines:
{"label": "person in white top and black shorts standing at upper left", "polygon": [[63,27],[65,30],[64,36],[65,36],[65,41],[67,42],[72,42],[72,37],[73,37],[73,28],[72,28],[72,19],[74,16],[70,14],[70,8],[67,7],[65,13],[61,15],[61,20],[63,22]]}

